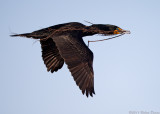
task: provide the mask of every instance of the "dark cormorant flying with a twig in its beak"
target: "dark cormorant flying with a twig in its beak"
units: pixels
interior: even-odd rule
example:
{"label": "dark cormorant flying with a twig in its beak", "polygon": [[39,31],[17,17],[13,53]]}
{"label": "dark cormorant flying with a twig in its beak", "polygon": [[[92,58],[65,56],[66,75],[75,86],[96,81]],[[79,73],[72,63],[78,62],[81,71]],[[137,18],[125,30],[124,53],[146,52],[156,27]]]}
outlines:
{"label": "dark cormorant flying with a twig in its beak", "polygon": [[47,71],[57,72],[65,63],[82,94],[93,97],[95,94],[93,52],[82,38],[95,34],[108,36],[130,34],[130,31],[111,24],[86,26],[79,22],[68,22],[31,33],[12,34],[11,36],[39,39],[42,59]]}

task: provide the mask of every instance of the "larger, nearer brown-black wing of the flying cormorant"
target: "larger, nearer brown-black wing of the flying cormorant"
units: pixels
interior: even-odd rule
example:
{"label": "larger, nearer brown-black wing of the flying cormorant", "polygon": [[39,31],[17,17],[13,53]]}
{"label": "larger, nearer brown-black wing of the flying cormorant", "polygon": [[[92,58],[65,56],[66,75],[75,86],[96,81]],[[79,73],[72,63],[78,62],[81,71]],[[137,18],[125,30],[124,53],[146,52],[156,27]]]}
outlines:
{"label": "larger, nearer brown-black wing of the flying cormorant", "polygon": [[76,84],[86,93],[93,96],[94,73],[93,73],[93,53],[85,45],[82,37],[78,35],[61,35],[52,38],[59,50],[60,55],[76,81]]}

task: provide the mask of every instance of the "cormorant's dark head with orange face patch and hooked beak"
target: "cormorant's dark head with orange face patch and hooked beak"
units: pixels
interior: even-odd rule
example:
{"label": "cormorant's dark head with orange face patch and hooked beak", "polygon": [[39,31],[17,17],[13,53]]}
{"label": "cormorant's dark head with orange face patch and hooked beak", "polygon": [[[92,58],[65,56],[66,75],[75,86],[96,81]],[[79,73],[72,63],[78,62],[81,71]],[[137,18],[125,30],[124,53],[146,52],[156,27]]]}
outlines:
{"label": "cormorant's dark head with orange face patch and hooked beak", "polygon": [[93,24],[91,27],[95,31],[97,31],[97,34],[102,34],[102,35],[130,34],[130,31],[123,30],[116,25]]}

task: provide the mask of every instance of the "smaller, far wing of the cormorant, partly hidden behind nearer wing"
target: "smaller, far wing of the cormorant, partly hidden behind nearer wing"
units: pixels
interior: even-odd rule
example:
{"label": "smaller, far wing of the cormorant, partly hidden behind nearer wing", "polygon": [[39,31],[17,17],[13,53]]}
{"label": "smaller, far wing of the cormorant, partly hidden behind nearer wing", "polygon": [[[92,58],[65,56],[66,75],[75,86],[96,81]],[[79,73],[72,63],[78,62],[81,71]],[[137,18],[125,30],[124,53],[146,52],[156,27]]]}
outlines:
{"label": "smaller, far wing of the cormorant, partly hidden behind nearer wing", "polygon": [[59,54],[59,51],[52,38],[40,40],[42,48],[42,58],[48,71],[52,73],[61,69],[64,64],[64,59]]}

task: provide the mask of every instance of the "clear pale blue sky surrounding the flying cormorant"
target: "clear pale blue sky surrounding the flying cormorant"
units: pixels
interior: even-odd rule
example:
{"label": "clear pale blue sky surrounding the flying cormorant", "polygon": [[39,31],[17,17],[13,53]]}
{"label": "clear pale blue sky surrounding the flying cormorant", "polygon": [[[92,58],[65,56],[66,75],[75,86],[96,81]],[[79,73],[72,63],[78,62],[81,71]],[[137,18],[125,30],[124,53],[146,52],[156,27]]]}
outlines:
{"label": "clear pale blue sky surrounding the flying cormorant", "polygon": [[[160,112],[159,6],[159,0],[1,0],[0,114]],[[131,31],[90,44],[93,98],[81,94],[66,65],[47,72],[39,42],[9,36],[66,22],[89,25],[84,20]]]}

